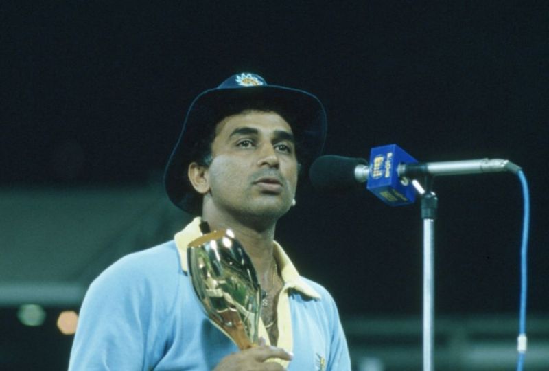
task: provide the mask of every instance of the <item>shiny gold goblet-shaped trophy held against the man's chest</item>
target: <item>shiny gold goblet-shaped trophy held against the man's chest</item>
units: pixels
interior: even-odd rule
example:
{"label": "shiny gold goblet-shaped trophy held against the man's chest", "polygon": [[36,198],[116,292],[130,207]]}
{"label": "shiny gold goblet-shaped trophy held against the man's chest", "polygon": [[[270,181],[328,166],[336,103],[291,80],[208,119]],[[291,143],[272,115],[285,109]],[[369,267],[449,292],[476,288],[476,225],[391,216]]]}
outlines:
{"label": "shiny gold goblet-shaped trophy held against the man's chest", "polygon": [[231,229],[209,232],[189,243],[189,274],[206,314],[244,350],[258,343],[261,288],[255,269]]}

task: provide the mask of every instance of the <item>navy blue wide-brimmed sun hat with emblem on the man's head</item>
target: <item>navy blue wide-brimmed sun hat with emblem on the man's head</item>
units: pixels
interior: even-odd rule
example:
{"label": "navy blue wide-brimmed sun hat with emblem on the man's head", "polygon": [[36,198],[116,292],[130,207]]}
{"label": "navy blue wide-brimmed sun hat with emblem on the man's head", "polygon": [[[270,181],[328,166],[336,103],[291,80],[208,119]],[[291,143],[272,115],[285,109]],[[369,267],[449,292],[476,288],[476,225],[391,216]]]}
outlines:
{"label": "navy blue wide-brimmed sun hat with emblem on the man's head", "polygon": [[323,104],[306,91],[269,85],[257,74],[236,74],[198,95],[189,106],[179,140],[167,162],[164,186],[170,201],[190,214],[201,213],[202,197],[192,188],[187,168],[198,161],[198,144],[213,135],[220,120],[244,109],[272,110],[292,127],[301,173],[322,153],[327,119]]}

